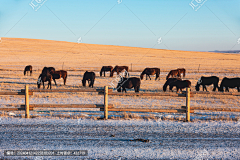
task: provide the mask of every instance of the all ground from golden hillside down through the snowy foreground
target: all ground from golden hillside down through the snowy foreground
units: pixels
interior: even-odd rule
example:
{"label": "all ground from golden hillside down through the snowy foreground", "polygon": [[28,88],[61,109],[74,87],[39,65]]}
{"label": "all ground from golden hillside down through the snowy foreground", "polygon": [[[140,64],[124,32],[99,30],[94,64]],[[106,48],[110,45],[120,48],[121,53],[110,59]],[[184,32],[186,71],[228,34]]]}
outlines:
{"label": "all ground from golden hillside down through the snowy foreground", "polygon": [[[0,54],[1,91],[19,91],[26,84],[30,89],[36,89],[44,66],[68,71],[67,85],[63,85],[62,79],[56,80],[58,85],[53,83],[52,89],[83,88],[81,80],[87,70],[96,73],[94,87],[110,86],[112,82],[117,85],[116,74],[113,78],[109,77],[109,73],[106,77],[99,76],[101,67],[108,65],[127,65],[130,76],[135,77],[139,77],[146,67],[160,68],[160,80],[155,81],[155,76],[152,80],[146,80],[144,76],[140,92],[163,92],[166,75],[176,68],[186,69],[183,79],[191,81],[192,91],[195,91],[201,76],[218,76],[221,82],[224,77],[239,77],[240,73],[239,54],[20,38],[2,38]],[[26,65],[33,66],[32,76],[23,75]],[[212,92],[212,86],[207,89]],[[230,92],[237,92],[237,89],[230,89]],[[182,97],[109,96],[109,104],[116,108],[180,109],[185,103]],[[24,96],[0,97],[1,108],[20,104],[24,104]],[[103,96],[97,93],[34,93],[30,96],[30,104],[103,104]],[[203,94],[191,97],[190,104],[239,109],[240,99],[233,95]],[[32,118],[26,120],[22,118],[23,111],[1,111],[1,157],[5,149],[87,149],[89,156],[82,158],[240,158],[239,112],[196,110],[191,114],[191,123],[183,122],[185,114],[169,113],[109,112],[108,121],[98,120],[103,117],[103,112],[96,109],[40,108],[30,114]],[[131,141],[134,138],[149,139],[149,142]]]}

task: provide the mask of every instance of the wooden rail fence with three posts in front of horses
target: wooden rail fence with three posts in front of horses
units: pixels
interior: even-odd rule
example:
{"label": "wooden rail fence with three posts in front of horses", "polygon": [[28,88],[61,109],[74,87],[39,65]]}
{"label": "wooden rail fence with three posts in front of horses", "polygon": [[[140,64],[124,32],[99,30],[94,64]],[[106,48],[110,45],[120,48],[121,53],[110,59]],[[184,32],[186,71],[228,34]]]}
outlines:
{"label": "wooden rail fence with three posts in front of horses", "polygon": [[[209,108],[209,107],[190,107],[190,97],[194,94],[213,94],[213,95],[238,95],[236,93],[216,93],[216,92],[190,92],[187,88],[183,94],[177,93],[116,93],[112,92],[108,86],[102,88],[87,88],[87,89],[29,89],[28,85],[21,92],[0,92],[0,95],[25,95],[25,104],[20,105],[20,108],[0,108],[2,111],[19,111],[25,110],[25,118],[30,118],[29,111],[33,108],[99,108],[104,111],[104,119],[108,119],[109,111],[130,111],[130,112],[166,112],[166,113],[186,113],[186,122],[190,122],[190,113],[194,110],[211,110],[211,111],[226,111],[226,112],[240,112],[240,109],[230,108]],[[104,95],[104,104],[29,104],[29,95],[34,92],[98,92],[99,95]],[[185,94],[184,94],[185,93]],[[108,104],[108,96],[172,96],[172,97],[186,97],[186,106],[181,109],[149,109],[149,108],[114,108],[112,104]],[[240,94],[239,94],[240,95]]]}

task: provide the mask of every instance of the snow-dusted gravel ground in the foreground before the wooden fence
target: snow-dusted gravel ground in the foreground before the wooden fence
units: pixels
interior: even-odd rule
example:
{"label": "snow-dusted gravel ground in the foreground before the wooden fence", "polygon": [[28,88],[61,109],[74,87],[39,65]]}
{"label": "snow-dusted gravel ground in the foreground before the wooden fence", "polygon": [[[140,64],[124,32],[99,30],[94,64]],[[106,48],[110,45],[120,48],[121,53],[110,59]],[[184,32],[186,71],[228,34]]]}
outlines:
{"label": "snow-dusted gravel ground in the foreground before the wooden fence", "polygon": [[[88,150],[85,157],[10,159],[239,159],[239,122],[1,118],[4,150]],[[149,142],[132,141],[145,139]],[[7,158],[7,157],[4,157]]]}

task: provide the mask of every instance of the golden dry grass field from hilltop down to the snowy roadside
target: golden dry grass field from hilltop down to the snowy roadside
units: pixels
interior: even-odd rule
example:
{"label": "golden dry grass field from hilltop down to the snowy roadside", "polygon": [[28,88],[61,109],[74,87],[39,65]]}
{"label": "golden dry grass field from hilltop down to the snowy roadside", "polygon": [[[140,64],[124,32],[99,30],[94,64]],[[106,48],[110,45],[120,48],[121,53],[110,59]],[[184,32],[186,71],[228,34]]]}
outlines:
{"label": "golden dry grass field from hilltop down to the snowy roadside", "polygon": [[[166,75],[171,69],[185,68],[187,73],[184,79],[191,81],[191,90],[195,90],[198,79],[201,76],[218,76],[220,81],[223,77],[239,77],[240,55],[211,52],[190,52],[161,50],[136,47],[122,47],[110,45],[95,45],[84,43],[71,43],[50,40],[2,38],[0,43],[0,89],[1,91],[16,91],[23,89],[26,84],[30,88],[36,88],[37,78],[44,66],[52,66],[57,70],[68,71],[67,85],[57,80],[55,88],[81,88],[83,73],[95,71],[96,81],[94,87],[110,85],[113,78],[99,77],[99,71],[104,65],[127,65],[130,68],[130,76],[139,77],[145,67],[159,67],[161,76],[159,81],[142,80],[140,92],[163,92],[162,86],[165,83]],[[131,68],[132,64],[132,68]],[[26,65],[33,66],[33,75],[24,76],[23,70]],[[220,83],[219,83],[220,84]],[[116,83],[117,85],[117,83]],[[211,92],[212,86],[207,87]],[[202,89],[202,88],[201,88]],[[130,91],[133,92],[133,91]],[[237,89],[230,89],[230,92],[237,92]],[[23,104],[23,97],[1,96],[1,107]],[[93,93],[36,93],[30,97],[31,103],[103,103],[103,97]],[[109,103],[115,107],[148,107],[148,108],[180,108],[185,105],[184,98],[178,97],[116,97],[109,98]],[[191,106],[207,107],[232,107],[240,108],[239,96],[220,95],[196,95],[191,98]],[[46,111],[46,109],[44,109]],[[2,113],[2,115],[7,113]],[[23,112],[16,112],[16,115],[23,115]],[[59,116],[59,112],[37,112],[34,114]],[[77,117],[98,117],[102,113],[97,112],[71,112],[65,111],[64,116]],[[111,114],[111,113],[110,113]],[[112,113],[113,114],[113,113]],[[174,118],[184,115],[169,115],[164,113],[114,113],[125,118],[139,118],[141,116]],[[202,112],[194,114],[196,117],[225,117],[236,119],[238,113]],[[194,117],[193,116],[193,117]],[[212,118],[214,119],[214,118]],[[222,118],[224,119],[224,118]]]}

